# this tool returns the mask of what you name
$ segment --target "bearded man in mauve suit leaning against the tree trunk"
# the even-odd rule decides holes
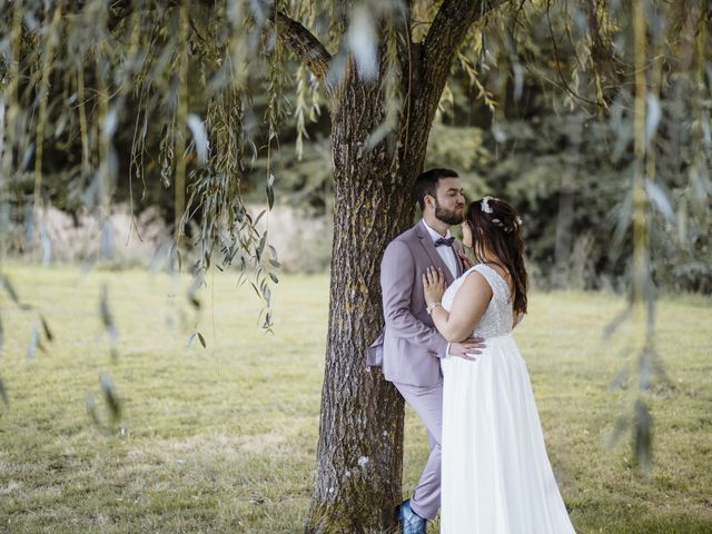
[[[447,285],[463,274],[463,249],[449,227],[463,221],[465,197],[457,172],[431,169],[415,182],[423,219],[396,237],[380,264],[385,329],[369,347],[367,365],[383,373],[425,423],[431,454],[413,497],[398,506],[404,534],[425,534],[426,522],[441,506],[441,434],[443,376],[439,358],[449,354],[473,359],[484,347],[469,338],[447,344],[433,326],[423,294],[423,274],[439,267]]]

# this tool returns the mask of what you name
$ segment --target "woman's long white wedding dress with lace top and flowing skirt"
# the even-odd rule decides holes
[[[474,336],[476,362],[442,360],[444,534],[560,534],[574,528],[552,472],[526,366],[512,337],[506,281],[477,265],[443,295],[452,308],[465,277],[478,271],[493,297]]]

